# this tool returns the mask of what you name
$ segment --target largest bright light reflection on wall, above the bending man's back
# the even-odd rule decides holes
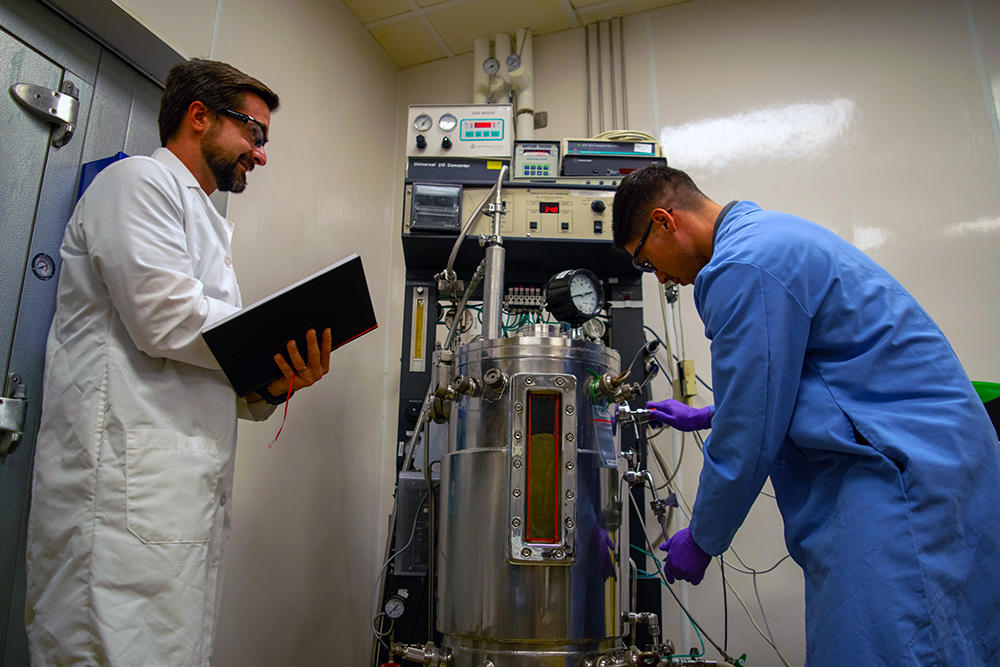
[[[664,127],[660,143],[679,168],[720,170],[764,159],[815,159],[842,137],[854,118],[854,103],[787,104]]]

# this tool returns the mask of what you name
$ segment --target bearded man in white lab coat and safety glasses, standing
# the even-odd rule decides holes
[[[229,65],[176,66],[164,147],[99,174],[66,227],[28,528],[35,665],[208,664],[237,417],[329,371],[329,331],[311,331],[241,399],[200,335],[241,307],[233,225],[208,196],[267,162],[277,107]]]

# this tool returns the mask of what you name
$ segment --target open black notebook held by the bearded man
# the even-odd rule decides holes
[[[361,258],[351,255],[304,280],[211,324],[201,332],[236,393],[246,396],[281,377],[274,363],[288,359],[295,340],[306,359],[306,332],[333,334],[333,349],[378,326]]]

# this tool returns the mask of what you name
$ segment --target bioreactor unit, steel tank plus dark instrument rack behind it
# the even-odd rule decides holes
[[[645,437],[611,419],[616,406],[635,419],[643,393],[616,350],[645,345],[641,278],[610,252],[614,184],[539,189],[507,183],[506,165],[438,166],[421,176],[432,187],[408,181],[404,207],[399,478],[372,663],[659,664],[673,653],[659,586],[628,552],[641,516],[626,495],[641,508],[652,481]]]

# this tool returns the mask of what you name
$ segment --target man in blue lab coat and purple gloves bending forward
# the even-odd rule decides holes
[[[807,663],[1000,665],[1000,447],[944,334],[860,250],[682,171],[622,181],[614,247],[694,285],[715,405],[691,524],[665,572],[698,583],[770,475],[805,572]]]

